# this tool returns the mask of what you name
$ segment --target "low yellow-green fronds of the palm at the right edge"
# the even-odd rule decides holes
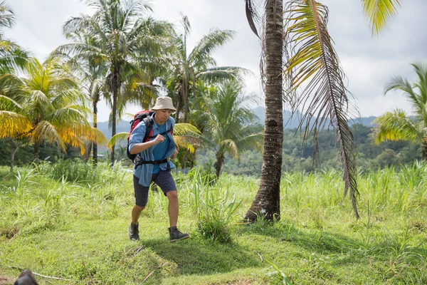
[[[421,125],[413,122],[404,110],[386,112],[372,123],[376,124],[376,127],[373,128],[371,136],[377,145],[386,140],[420,142],[423,138]]]

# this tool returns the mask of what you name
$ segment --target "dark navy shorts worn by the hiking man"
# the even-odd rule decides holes
[[[162,189],[164,195],[169,191],[176,191],[174,178],[170,171],[160,170],[159,173],[152,175],[152,182],[156,183]],[[145,207],[148,201],[149,187],[139,184],[139,178],[134,175],[135,204],[139,207]]]

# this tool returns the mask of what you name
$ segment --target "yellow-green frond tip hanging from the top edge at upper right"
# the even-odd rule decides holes
[[[379,35],[397,13],[401,0],[362,0],[364,16],[373,35]]]

